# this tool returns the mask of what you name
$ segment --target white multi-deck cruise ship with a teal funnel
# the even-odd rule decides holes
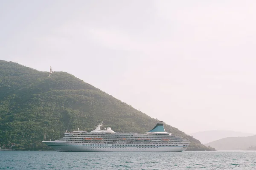
[[[66,131],[62,139],[43,142],[58,152],[182,152],[190,144],[166,132],[163,121],[144,134],[116,133],[111,127],[101,130],[102,123],[91,132]]]

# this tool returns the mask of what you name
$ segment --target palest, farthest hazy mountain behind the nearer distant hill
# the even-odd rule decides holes
[[[253,136],[253,133],[243,133],[230,130],[209,130],[189,134],[195,139],[198,139],[202,144],[216,141],[218,139],[227,137],[239,137],[239,136]],[[208,145],[207,145],[208,146]]]

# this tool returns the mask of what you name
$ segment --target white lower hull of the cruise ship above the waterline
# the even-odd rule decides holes
[[[182,144],[180,146],[150,146],[150,144],[144,144],[144,146],[130,146],[128,144],[127,146],[113,146],[113,144],[87,146],[85,143],[43,142],[58,152],[182,152],[187,148],[183,147]]]

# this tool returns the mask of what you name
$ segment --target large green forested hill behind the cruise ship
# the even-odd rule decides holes
[[[48,72],[0,60],[0,144],[44,149],[44,133],[60,139],[67,129],[90,131],[102,120],[116,132],[140,133],[158,122],[66,72],[48,77]],[[165,128],[189,139],[188,150],[214,150],[175,127]]]

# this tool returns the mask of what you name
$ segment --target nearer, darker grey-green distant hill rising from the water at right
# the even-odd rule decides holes
[[[228,137],[209,142],[205,146],[216,150],[256,150],[256,135],[248,137]]]

